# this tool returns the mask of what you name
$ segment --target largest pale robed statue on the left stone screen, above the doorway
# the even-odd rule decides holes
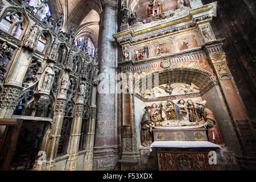
[[[44,92],[50,92],[53,84],[53,80],[55,77],[55,72],[53,70],[54,64],[50,63],[44,70],[42,77],[40,78],[38,84],[38,90]]]

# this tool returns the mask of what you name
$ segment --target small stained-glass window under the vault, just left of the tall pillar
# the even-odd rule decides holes
[[[92,40],[90,40],[87,36],[82,36],[77,39],[75,45],[84,53],[88,55],[92,55],[94,57],[95,47],[93,45]]]

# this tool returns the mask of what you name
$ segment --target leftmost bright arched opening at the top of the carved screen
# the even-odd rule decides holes
[[[0,22],[0,29],[19,39],[27,27],[23,14],[19,10],[6,10]]]

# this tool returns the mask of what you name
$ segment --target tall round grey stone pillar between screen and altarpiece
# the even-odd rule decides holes
[[[108,1],[107,1],[108,2]],[[113,34],[117,32],[117,3],[110,1],[102,7],[100,39],[98,43],[100,75],[97,95],[97,122],[94,145],[93,169],[117,169],[118,119],[117,92],[117,44]]]

